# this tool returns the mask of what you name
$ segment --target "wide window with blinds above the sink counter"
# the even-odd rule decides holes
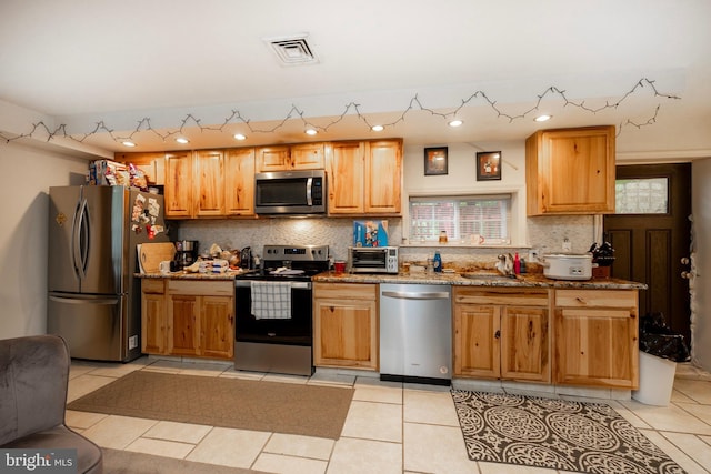
[[[487,243],[510,240],[511,195],[410,198],[410,241],[438,241],[441,231],[451,242],[470,242],[479,234]]]

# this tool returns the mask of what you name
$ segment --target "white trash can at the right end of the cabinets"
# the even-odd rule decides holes
[[[640,351],[640,387],[632,391],[632,399],[645,405],[669,405],[675,373],[675,362]]]

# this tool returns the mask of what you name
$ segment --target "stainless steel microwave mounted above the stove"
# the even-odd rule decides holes
[[[254,174],[257,214],[326,213],[326,171],[272,171]]]

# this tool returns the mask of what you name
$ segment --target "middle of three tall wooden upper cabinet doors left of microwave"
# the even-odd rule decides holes
[[[194,215],[224,214],[224,162],[219,150],[200,150],[194,155]]]

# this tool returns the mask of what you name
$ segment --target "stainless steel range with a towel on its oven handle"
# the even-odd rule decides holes
[[[261,269],[234,281],[234,369],[311,375],[311,278],[328,245],[264,245]]]

